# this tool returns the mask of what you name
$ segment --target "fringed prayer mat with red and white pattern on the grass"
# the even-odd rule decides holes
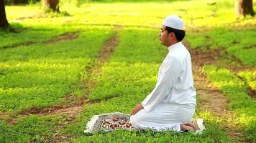
[[[120,112],[95,115],[87,123],[84,133],[93,134],[99,131],[110,132],[116,129],[132,130],[134,128],[129,122],[129,117],[129,114],[122,114]]]

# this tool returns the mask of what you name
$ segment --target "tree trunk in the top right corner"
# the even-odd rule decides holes
[[[252,6],[252,0],[236,0],[235,6],[237,15],[239,16],[246,16],[247,14],[250,14],[251,16],[255,15]]]

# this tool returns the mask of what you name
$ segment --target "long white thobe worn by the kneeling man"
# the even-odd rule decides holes
[[[169,46],[168,51],[155,88],[142,102],[144,109],[130,117],[135,128],[179,132],[180,124],[189,122],[195,113],[191,55],[181,42]]]

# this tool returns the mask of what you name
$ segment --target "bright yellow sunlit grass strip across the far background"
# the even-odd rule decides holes
[[[116,1],[105,2],[79,2],[79,6],[70,4],[70,1],[62,1],[60,11],[67,12],[70,16],[60,16],[58,18],[36,18],[22,19],[20,24],[109,24],[121,26],[161,26],[165,16],[178,14],[183,18],[186,29],[201,27],[224,27],[224,26],[244,26],[255,25],[255,17],[237,20],[234,12],[234,1],[216,1],[216,4],[209,5],[207,0],[193,1]],[[76,5],[76,4],[75,4]],[[255,4],[254,4],[255,5]],[[40,6],[31,6],[32,14]],[[255,7],[256,9],[256,7]],[[24,14],[19,8],[8,7],[10,19],[18,18]],[[36,10],[37,11],[37,10]],[[30,16],[30,14],[29,14]]]

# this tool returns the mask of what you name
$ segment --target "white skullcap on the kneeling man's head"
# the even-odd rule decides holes
[[[184,22],[177,15],[167,16],[163,21],[163,25],[173,29],[184,30]]]

